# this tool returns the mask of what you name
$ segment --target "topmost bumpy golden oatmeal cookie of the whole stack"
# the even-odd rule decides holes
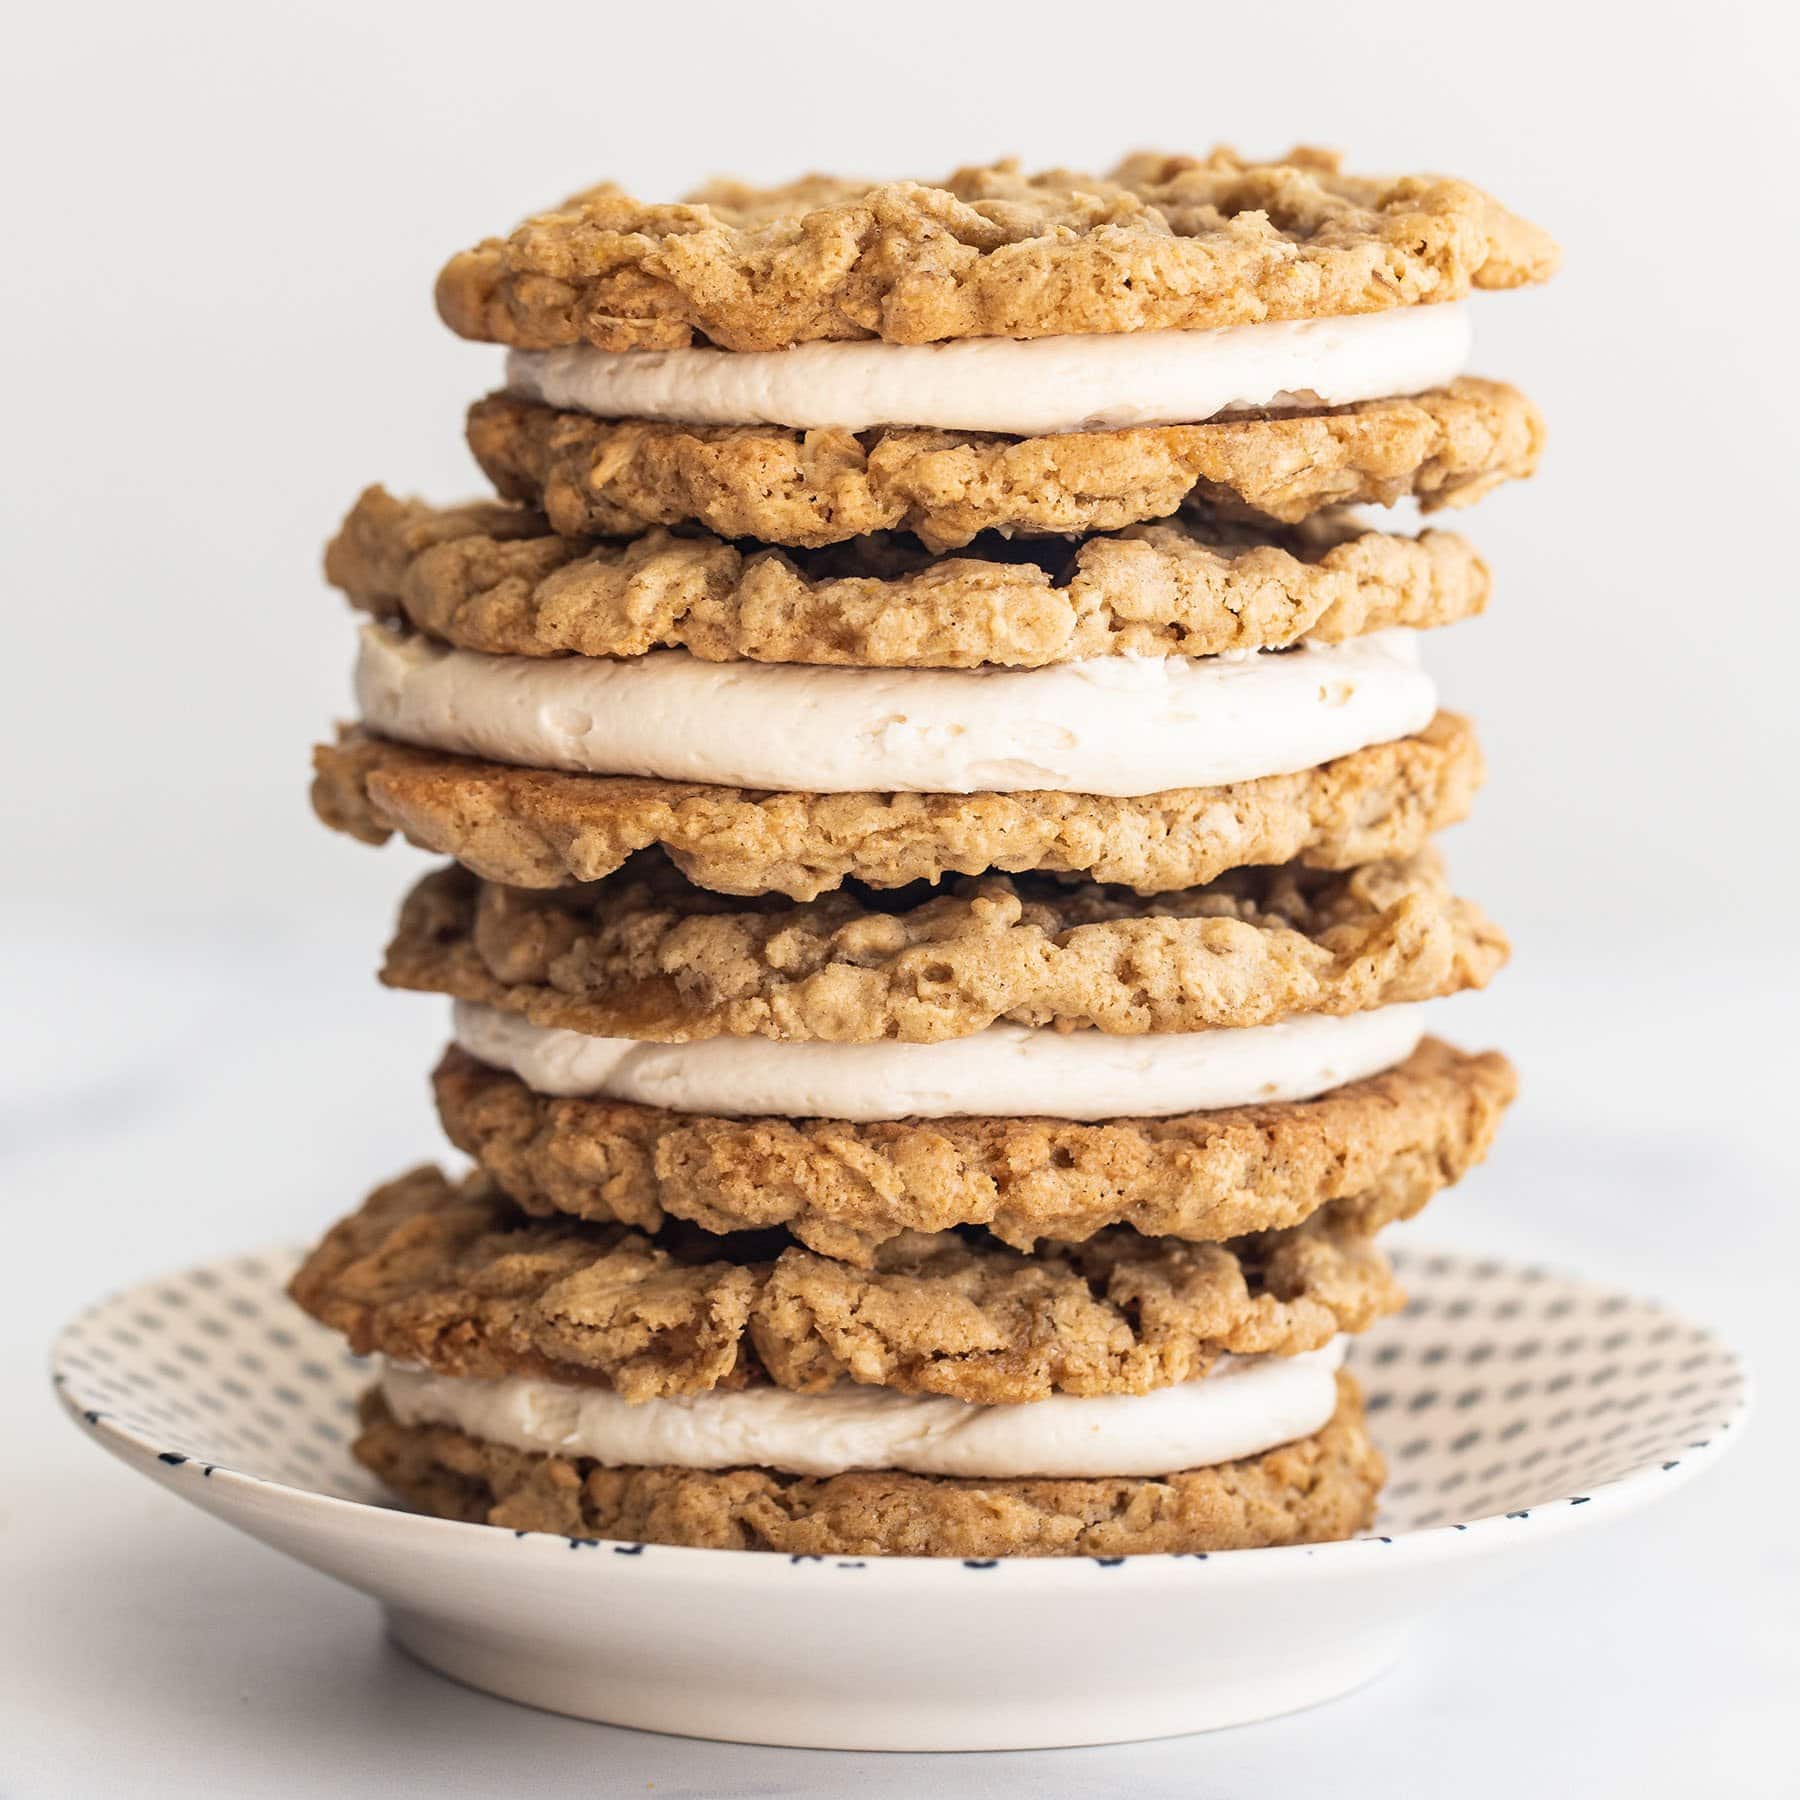
[[[1220,148],[1105,176],[1008,160],[943,184],[713,182],[675,205],[605,182],[452,257],[437,311],[524,349],[760,351],[1373,313],[1555,266],[1548,234],[1467,182]]]

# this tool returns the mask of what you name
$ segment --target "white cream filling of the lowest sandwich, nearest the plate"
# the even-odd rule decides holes
[[[608,1467],[844,1474],[1157,1476],[1260,1456],[1321,1429],[1337,1406],[1343,1339],[1292,1357],[1222,1357],[1201,1381],[1152,1393],[1053,1395],[970,1406],[941,1395],[839,1386],[747,1388],[632,1404],[607,1388],[513,1375],[434,1375],[389,1364],[382,1395],[403,1426],[450,1426],[491,1444]]]

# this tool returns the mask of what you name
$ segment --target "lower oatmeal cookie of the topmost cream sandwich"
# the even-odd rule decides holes
[[[819,547],[911,531],[949,551],[983,531],[1118,531],[1190,500],[1294,524],[1345,506],[1467,506],[1537,468],[1544,423],[1516,387],[1462,376],[1411,398],[1204,425],[997,437],[884,427],[596,419],[490,394],[468,445],[508,500],[569,536],[697,522]]]

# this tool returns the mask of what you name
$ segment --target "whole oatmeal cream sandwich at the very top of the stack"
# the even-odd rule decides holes
[[[1534,470],[1543,421],[1465,373],[1456,302],[1553,266],[1462,182],[1215,151],[673,207],[599,187],[455,257],[439,308],[513,346],[468,441],[558,533],[943,551],[1188,499],[1463,506]]]

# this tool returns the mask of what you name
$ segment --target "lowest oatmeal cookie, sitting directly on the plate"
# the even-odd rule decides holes
[[[1316,1433],[1175,1474],[974,1480],[857,1471],[603,1467],[403,1426],[362,1402],[358,1462],[423,1512],[518,1532],[788,1555],[1051,1557],[1251,1550],[1354,1537],[1375,1516],[1381,1453],[1337,1375]]]

